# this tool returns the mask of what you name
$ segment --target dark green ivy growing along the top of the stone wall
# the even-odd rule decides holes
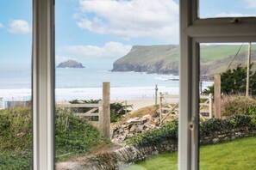
[[[219,133],[231,131],[256,130],[256,115],[234,115],[228,119],[211,118],[200,123],[199,136],[209,137]],[[136,137],[128,139],[128,144],[148,146],[161,141],[178,139],[178,120],[165,124],[159,129],[144,132]]]

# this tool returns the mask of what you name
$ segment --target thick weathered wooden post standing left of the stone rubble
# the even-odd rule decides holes
[[[110,138],[110,82],[103,82],[103,113],[99,124],[103,135]]]

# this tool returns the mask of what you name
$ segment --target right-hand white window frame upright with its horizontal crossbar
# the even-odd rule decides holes
[[[179,170],[199,169],[199,44],[256,42],[255,17],[199,19],[198,6],[197,0],[180,0]]]

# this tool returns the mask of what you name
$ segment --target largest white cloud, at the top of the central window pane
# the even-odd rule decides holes
[[[174,0],[80,0],[78,27],[122,38],[178,41],[178,3]],[[175,40],[174,40],[175,39]]]

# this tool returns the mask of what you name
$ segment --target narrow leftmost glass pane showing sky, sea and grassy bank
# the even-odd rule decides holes
[[[0,169],[32,167],[32,1],[0,2]]]

